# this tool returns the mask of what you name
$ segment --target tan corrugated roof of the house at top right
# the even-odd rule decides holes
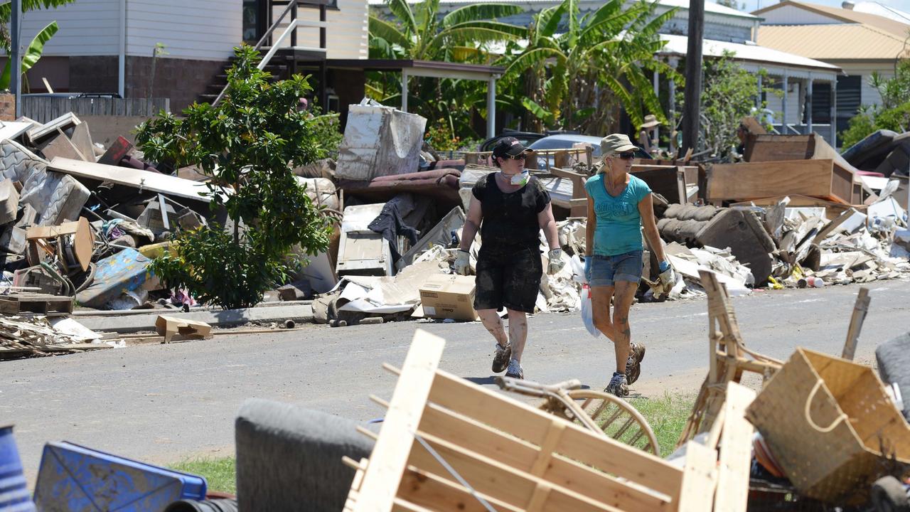
[[[904,39],[863,24],[763,25],[756,40],[767,46],[818,60],[894,59]]]

